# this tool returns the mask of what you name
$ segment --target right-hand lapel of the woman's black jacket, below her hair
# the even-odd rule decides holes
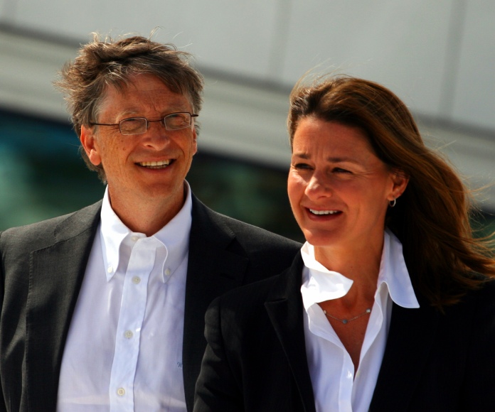
[[[418,309],[393,304],[387,345],[370,411],[408,410],[435,340],[439,316],[426,300],[420,300]]]

